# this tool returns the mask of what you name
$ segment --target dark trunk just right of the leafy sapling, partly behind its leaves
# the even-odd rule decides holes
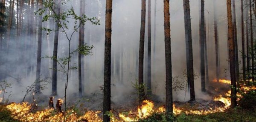
[[[80,0],[80,17],[83,16],[85,12],[85,0]],[[84,45],[84,25],[79,28],[79,47]],[[82,96],[82,71],[84,71],[84,56],[78,54],[78,76],[79,76],[79,96]]]

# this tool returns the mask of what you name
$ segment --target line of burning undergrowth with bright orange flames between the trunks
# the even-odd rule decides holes
[[[220,80],[221,82],[221,80]],[[222,82],[228,84],[228,82]],[[256,90],[256,87],[247,87],[241,85],[240,93],[247,93],[247,91]],[[218,92],[218,89],[216,90]],[[242,95],[237,94],[241,99]],[[100,99],[99,96],[97,99]],[[92,104],[102,105],[101,102],[97,103],[97,100],[85,102],[79,107],[70,107],[66,113],[66,122],[102,122],[102,112],[93,109],[81,109],[89,108]],[[63,102],[62,100],[60,102]],[[136,103],[131,101],[120,105],[112,104],[112,111],[109,113],[111,116],[111,122],[134,122],[140,119],[146,119],[154,113],[164,113],[165,107],[162,102],[153,102],[151,100],[144,100],[141,106],[136,106]],[[59,104],[59,103],[58,103]],[[59,104],[61,105],[61,104]],[[11,103],[5,105],[4,109],[10,111],[12,118],[19,120],[20,122],[62,122],[64,120],[64,113],[60,109],[44,107],[35,107],[35,104],[23,103]],[[75,105],[77,106],[77,105]],[[175,101],[173,104],[175,115],[182,113],[195,114],[195,115],[207,115],[210,113],[218,113],[226,111],[230,106],[230,91],[222,92],[212,96],[212,100],[197,99],[196,102],[179,102]]]

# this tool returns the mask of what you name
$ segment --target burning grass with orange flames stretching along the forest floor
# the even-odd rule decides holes
[[[222,83],[228,83],[228,80],[220,80]],[[240,91],[242,93],[247,93],[247,91],[256,90],[256,87],[241,86]],[[241,98],[241,94],[237,95]],[[197,116],[201,118],[202,116],[216,116],[217,114],[225,115],[227,111],[230,111],[230,91],[226,93],[219,94],[213,97],[213,100],[207,101],[198,99],[198,102],[177,102],[173,104],[174,114],[177,120],[184,119],[188,122],[189,119],[193,122],[194,117]],[[53,108],[40,109],[35,108],[33,104],[28,102],[23,103],[11,103],[9,105],[0,105],[0,113],[7,111],[6,114],[9,115],[11,122],[63,122],[64,113],[59,112]],[[144,100],[141,106],[137,107],[137,110],[128,110],[128,112],[112,112],[111,122],[136,122],[141,120],[146,120],[152,116],[156,118],[162,118],[165,112],[164,105],[156,107],[154,102],[150,100]],[[255,113],[254,113],[255,114]],[[254,115],[253,114],[253,115]],[[73,109],[68,109],[66,113],[66,122],[102,122],[101,111],[85,111],[84,113],[77,113]],[[6,116],[0,116],[4,118]],[[188,119],[189,118],[189,119]],[[193,119],[194,118],[194,119]],[[254,119],[256,120],[256,119]],[[141,121],[144,122],[144,121]],[[145,121],[148,122],[148,121]],[[153,122],[153,121],[150,121]],[[165,121],[160,121],[165,122]],[[168,122],[168,121],[166,121]],[[183,122],[183,121],[178,121]],[[197,121],[201,122],[201,121]],[[218,121],[212,121],[218,122]],[[225,122],[225,121],[224,121]],[[254,121],[250,121],[254,122]]]

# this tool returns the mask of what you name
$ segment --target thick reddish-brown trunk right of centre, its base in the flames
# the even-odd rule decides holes
[[[169,0],[163,0],[164,13],[164,43],[166,62],[166,114],[173,113],[172,107],[172,52],[171,52],[171,30]]]

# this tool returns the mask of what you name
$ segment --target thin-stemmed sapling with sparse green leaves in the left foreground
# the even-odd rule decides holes
[[[44,15],[43,22],[46,22],[50,18],[52,18],[53,20],[55,20],[56,23],[58,23],[58,29],[55,30],[55,29],[48,28],[48,27],[43,27],[41,29],[44,31],[47,31],[47,34],[49,34],[51,31],[61,31],[65,35],[65,37],[68,41],[67,57],[58,58],[58,57],[49,57],[48,56],[48,58],[51,58],[52,60],[56,60],[58,65],[61,67],[60,69],[54,69],[54,70],[61,71],[66,75],[65,94],[64,94],[64,106],[65,106],[64,120],[65,120],[66,108],[67,108],[66,96],[67,96],[67,86],[68,86],[68,81],[69,81],[69,73],[70,73],[70,70],[77,69],[75,66],[74,67],[70,66],[71,57],[75,52],[78,52],[83,55],[90,55],[91,49],[93,48],[93,46],[88,46],[85,44],[85,45],[79,46],[76,50],[71,51],[70,45],[71,45],[73,35],[75,32],[78,31],[79,27],[81,25],[85,25],[85,23],[87,21],[89,21],[93,25],[99,25],[99,20],[96,17],[92,17],[92,18],[87,17],[85,14],[81,14],[81,16],[79,16],[78,14],[75,13],[75,10],[73,9],[73,7],[71,7],[70,9],[67,9],[66,11],[62,11],[60,14],[58,14],[56,12],[56,9],[58,8],[58,4],[66,4],[70,0],[68,0],[68,1],[67,0],[58,0],[58,2],[55,2],[55,1],[56,0],[45,0],[43,3],[43,8],[36,11],[35,14],[43,15],[44,11],[49,11],[49,13],[51,13],[51,14]],[[68,26],[68,23],[70,23],[70,21],[73,21],[73,29],[72,30]],[[71,33],[68,32],[70,30],[71,30]]]

